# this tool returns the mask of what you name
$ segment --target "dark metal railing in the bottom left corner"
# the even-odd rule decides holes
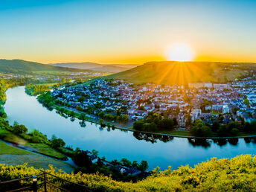
[[[71,190],[65,189],[63,187],[60,187],[58,185],[55,185],[53,182],[49,182],[48,178],[52,177],[55,179],[56,182],[67,182],[69,183],[69,185],[72,185],[73,188]],[[52,179],[52,180],[54,180]],[[22,181],[28,181],[28,182],[32,182],[31,185],[22,187],[22,188],[15,188],[17,185],[18,186],[22,186],[22,184],[20,182]],[[41,181],[41,182],[39,182]],[[43,188],[42,188],[43,187]],[[21,178],[21,179],[13,179],[10,181],[5,181],[5,182],[0,182],[0,191],[7,191],[7,192],[14,192],[14,191],[33,191],[33,192],[37,192],[39,188],[40,191],[51,191],[48,190],[48,188],[55,188],[58,189],[59,191],[89,191],[88,188],[86,188],[86,186],[74,183],[74,182],[70,182],[66,179],[60,178],[59,176],[54,176],[51,173],[48,172],[43,172],[41,174],[35,175],[35,176],[28,176],[25,178]],[[15,188],[15,189],[13,189]]]

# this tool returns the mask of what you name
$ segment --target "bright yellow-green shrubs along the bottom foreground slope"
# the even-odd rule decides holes
[[[117,182],[109,176],[98,173],[63,173],[50,168],[49,172],[68,179],[71,182],[85,185],[92,191],[255,191],[256,190],[256,157],[245,155],[233,159],[211,159],[194,168],[179,167],[178,170],[153,171],[153,175],[139,182]],[[0,165],[0,180],[17,179],[42,173],[33,167]],[[74,186],[49,179],[56,185],[71,189]],[[24,182],[22,185],[27,185]],[[2,189],[4,190],[4,188]]]

